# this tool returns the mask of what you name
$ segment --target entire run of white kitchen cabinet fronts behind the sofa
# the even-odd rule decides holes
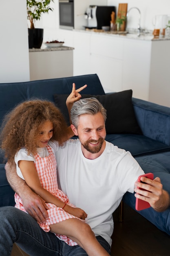
[[[97,73],[105,92],[148,100],[151,41],[74,31],[74,75]]]

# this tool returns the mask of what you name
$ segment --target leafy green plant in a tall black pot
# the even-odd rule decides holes
[[[40,20],[42,13],[53,11],[50,3],[54,0],[26,0],[27,19],[30,21],[29,48],[40,48],[43,40],[43,29],[35,29],[35,21]]]

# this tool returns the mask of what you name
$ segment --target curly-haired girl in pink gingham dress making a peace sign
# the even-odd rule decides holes
[[[81,97],[77,93],[75,96],[75,92],[72,91],[67,101],[77,101]],[[49,219],[40,227],[55,233],[68,245],[80,245],[89,256],[108,256],[84,222],[87,214],[73,206],[58,189],[55,152],[72,136],[71,128],[66,126],[60,110],[53,103],[25,101],[4,120],[2,149],[9,164],[15,159],[18,175],[46,202]],[[25,211],[16,193],[15,203],[15,207]]]

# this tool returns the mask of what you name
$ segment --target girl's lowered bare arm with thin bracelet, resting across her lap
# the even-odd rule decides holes
[[[83,220],[87,217],[87,214],[82,209],[71,207],[68,204],[65,205],[64,202],[60,201],[49,191],[42,188],[33,161],[21,160],[18,162],[18,166],[22,172],[26,184],[46,203],[52,203],[55,204],[57,207],[64,208],[64,211],[67,211],[68,213],[73,214],[78,218],[82,218]]]

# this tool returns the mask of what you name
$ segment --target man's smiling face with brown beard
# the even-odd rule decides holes
[[[71,126],[75,135],[79,136],[82,152],[88,159],[95,159],[105,148],[106,129],[101,112],[95,115],[79,116],[78,128]]]

